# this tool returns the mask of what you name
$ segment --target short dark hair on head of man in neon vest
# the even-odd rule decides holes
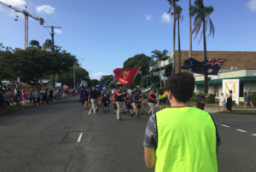
[[[195,77],[189,72],[174,74],[167,78],[166,89],[172,92],[177,101],[185,103],[194,93]]]

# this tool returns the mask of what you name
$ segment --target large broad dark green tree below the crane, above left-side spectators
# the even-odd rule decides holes
[[[41,77],[51,72],[68,72],[76,61],[73,55],[66,51],[49,52],[46,49],[7,49],[5,58],[11,66],[9,67],[20,77],[20,81],[31,86],[37,86]]]

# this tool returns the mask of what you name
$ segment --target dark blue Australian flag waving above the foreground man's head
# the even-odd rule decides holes
[[[219,69],[224,65],[226,59],[210,59],[198,61],[189,58],[184,61],[182,69],[191,69],[192,72],[201,73],[203,75],[218,75]]]

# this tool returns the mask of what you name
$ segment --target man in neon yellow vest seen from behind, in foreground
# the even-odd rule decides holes
[[[171,107],[148,119],[143,146],[155,172],[217,172],[221,140],[211,115],[190,105],[195,77],[182,72],[166,80]]]

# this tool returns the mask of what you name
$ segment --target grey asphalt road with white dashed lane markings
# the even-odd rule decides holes
[[[88,115],[76,96],[0,117],[0,171],[154,171],[143,159],[148,115],[119,122],[112,110]],[[219,171],[255,171],[256,116],[212,116],[223,142]]]

